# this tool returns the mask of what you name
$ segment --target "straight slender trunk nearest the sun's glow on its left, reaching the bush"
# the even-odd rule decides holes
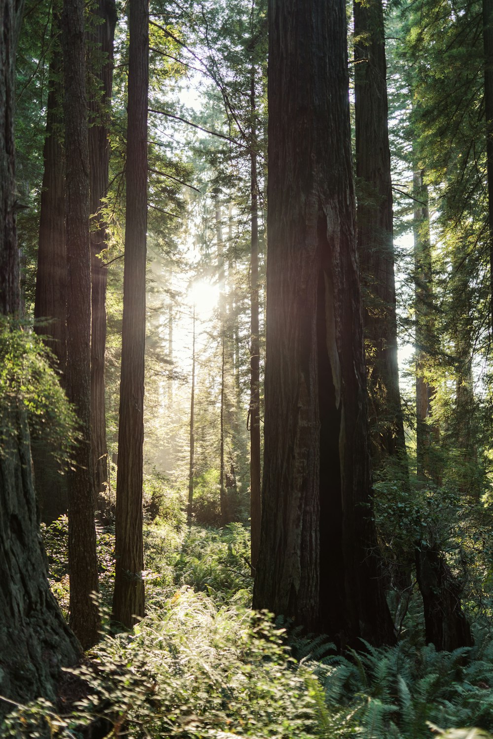
[[[147,92],[149,5],[129,13],[125,267],[118,429],[113,619],[127,628],[144,614],[142,481],[146,344]]]

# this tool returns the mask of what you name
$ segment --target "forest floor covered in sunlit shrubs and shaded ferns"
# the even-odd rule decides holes
[[[44,534],[52,588],[66,610],[67,520]],[[70,673],[85,681],[84,697],[65,712],[43,701],[20,709],[2,737],[41,736],[47,726],[49,736],[71,739],[472,739],[493,730],[490,638],[477,633],[472,649],[437,653],[424,644],[412,603],[396,647],[361,644],[361,653],[336,655],[326,638],[250,610],[244,525],[156,519],[144,541],[145,619],[132,633],[111,630],[113,534],[98,528],[104,633]]]

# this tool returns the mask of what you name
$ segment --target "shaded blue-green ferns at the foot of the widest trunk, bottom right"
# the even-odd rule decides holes
[[[493,729],[491,641],[452,653],[437,653],[432,644],[416,649],[409,641],[364,649],[327,658],[332,667],[324,678],[329,705],[364,696],[358,713],[364,737],[424,738],[427,722]]]

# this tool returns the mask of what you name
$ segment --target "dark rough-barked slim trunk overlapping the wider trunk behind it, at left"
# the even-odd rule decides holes
[[[70,625],[84,649],[98,641],[100,619],[91,451],[91,252],[89,248],[89,146],[84,1],[64,0],[64,120],[67,157],[67,396],[80,421],[80,440],[67,474]]]

